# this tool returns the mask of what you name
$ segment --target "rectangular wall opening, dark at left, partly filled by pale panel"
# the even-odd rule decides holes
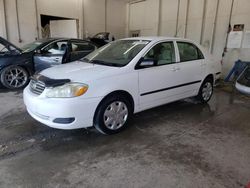
[[[77,19],[41,15],[42,38],[78,38],[78,25]]]

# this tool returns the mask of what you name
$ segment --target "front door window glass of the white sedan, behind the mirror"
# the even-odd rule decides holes
[[[175,63],[175,48],[173,42],[164,42],[155,45],[144,56],[144,60],[153,60],[156,65]]]

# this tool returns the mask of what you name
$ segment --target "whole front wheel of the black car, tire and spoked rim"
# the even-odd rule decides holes
[[[8,89],[24,88],[29,83],[29,73],[20,66],[9,66],[1,71],[1,83]]]

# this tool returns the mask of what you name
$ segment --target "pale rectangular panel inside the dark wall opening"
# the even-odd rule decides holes
[[[50,37],[77,38],[76,20],[51,20]]]

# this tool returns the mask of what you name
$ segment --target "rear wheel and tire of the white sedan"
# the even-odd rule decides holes
[[[207,103],[211,99],[213,92],[214,92],[213,80],[206,78],[201,84],[199,94],[196,96],[196,98],[201,103]]]

